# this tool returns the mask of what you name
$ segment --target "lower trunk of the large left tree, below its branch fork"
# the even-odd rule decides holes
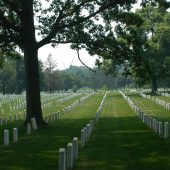
[[[31,117],[36,118],[38,125],[45,124],[42,117],[41,99],[40,99],[40,82],[37,50],[25,48],[25,74],[26,74],[26,120],[30,122]]]

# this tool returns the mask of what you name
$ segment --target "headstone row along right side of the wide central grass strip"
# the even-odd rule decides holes
[[[160,136],[164,138],[168,138],[169,136],[169,123],[168,122],[160,122],[148,115],[147,113],[142,112],[134,103],[130,100],[128,96],[126,96],[122,91],[120,91],[121,95],[127,102],[129,103],[132,110],[137,114],[138,118],[143,121],[148,127],[150,127],[155,133],[158,133]]]

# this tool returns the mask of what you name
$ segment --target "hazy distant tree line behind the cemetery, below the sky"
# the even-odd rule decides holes
[[[84,66],[70,66],[65,70],[58,70],[53,58],[49,55],[46,62],[39,61],[40,88],[41,91],[55,92],[76,91],[80,88],[114,89],[125,87],[132,83],[131,78],[119,75],[106,75],[98,69],[96,72],[88,70]],[[20,94],[25,91],[25,69],[22,57],[17,59],[6,58],[0,69],[0,93]]]

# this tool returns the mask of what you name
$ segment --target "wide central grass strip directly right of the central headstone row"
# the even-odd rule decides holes
[[[136,117],[120,95],[109,94],[74,170],[169,170],[169,145]]]

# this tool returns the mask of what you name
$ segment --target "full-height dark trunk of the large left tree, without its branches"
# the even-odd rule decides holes
[[[26,120],[25,124],[34,117],[37,125],[46,124],[42,117],[40,100],[40,80],[38,49],[35,39],[33,0],[21,1],[23,6],[23,51],[26,78]]]

